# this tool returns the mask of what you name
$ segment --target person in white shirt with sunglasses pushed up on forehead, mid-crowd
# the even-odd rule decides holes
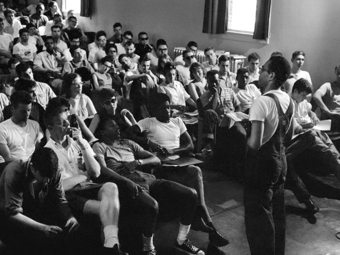
[[[189,104],[192,108],[196,108],[196,103],[191,99],[190,95],[185,91],[182,83],[175,80],[176,67],[170,62],[164,65],[165,80],[158,86],[157,92],[167,94],[170,97],[170,108],[174,109],[174,114],[180,114],[186,111],[185,104]]]

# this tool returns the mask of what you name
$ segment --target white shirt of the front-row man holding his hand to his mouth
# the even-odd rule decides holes
[[[76,175],[86,175],[89,177],[87,171],[83,171],[78,167],[78,157],[79,152],[81,152],[78,144],[70,138],[67,137],[67,147],[64,148],[60,144],[53,141],[51,138],[47,141],[45,147],[53,149],[55,154],[58,157],[58,166],[61,170],[61,178],[62,180],[68,177],[76,176]],[[95,156],[92,148],[86,141],[86,148],[90,152],[91,155]]]

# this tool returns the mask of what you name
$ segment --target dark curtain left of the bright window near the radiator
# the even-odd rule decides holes
[[[203,33],[224,33],[227,21],[227,0],[205,0]]]

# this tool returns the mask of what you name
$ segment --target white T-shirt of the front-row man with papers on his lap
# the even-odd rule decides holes
[[[170,118],[168,123],[160,122],[155,117],[144,118],[139,120],[137,125],[141,132],[145,132],[147,138],[168,149],[178,148],[179,136],[186,131],[180,117]]]

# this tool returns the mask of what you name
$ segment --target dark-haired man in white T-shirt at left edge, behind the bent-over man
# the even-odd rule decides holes
[[[28,119],[32,96],[17,91],[10,96],[12,116],[0,123],[0,156],[5,162],[27,160],[39,146],[43,136],[38,122]]]

